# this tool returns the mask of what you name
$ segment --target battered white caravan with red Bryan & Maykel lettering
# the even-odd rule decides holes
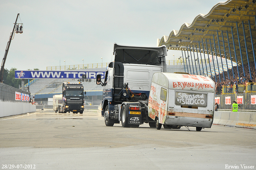
[[[156,128],[193,126],[210,128],[214,114],[215,84],[208,76],[156,72],[148,99],[148,116]]]

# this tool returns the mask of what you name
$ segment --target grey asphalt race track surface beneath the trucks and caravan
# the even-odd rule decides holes
[[[256,169],[252,129],[107,127],[97,110],[59,114],[51,109],[0,118],[0,129],[1,169]]]

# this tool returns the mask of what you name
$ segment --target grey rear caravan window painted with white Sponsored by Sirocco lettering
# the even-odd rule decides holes
[[[207,106],[207,94],[176,92],[175,104]]]

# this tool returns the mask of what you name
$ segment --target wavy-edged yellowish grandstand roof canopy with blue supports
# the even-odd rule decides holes
[[[241,61],[240,51],[244,63],[247,63],[247,47],[249,62],[252,62],[254,61],[253,49],[256,52],[255,23],[256,0],[219,2],[208,14],[196,16],[192,24],[184,23],[180,30],[173,30],[169,36],[158,39],[158,46],[166,45],[169,50],[187,50],[187,48],[191,51],[200,52],[201,50],[201,52],[208,52],[216,56],[220,56],[220,54],[225,56],[226,53],[228,59],[230,59],[231,52],[233,61],[235,61],[236,52],[239,64]],[[244,37],[246,37],[246,42]],[[223,46],[223,44],[225,45]],[[234,51],[234,45],[236,51]]]

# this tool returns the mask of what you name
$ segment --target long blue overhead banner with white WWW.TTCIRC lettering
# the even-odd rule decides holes
[[[105,72],[83,72],[83,71],[15,71],[15,78],[86,78],[96,79],[96,76],[100,74],[104,78]]]

